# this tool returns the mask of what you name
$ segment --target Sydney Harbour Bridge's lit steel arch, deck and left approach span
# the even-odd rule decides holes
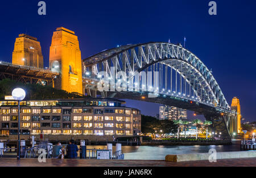
[[[75,36],[75,32],[68,29],[61,27],[58,30]],[[75,42],[64,46],[74,48]],[[57,55],[57,48],[51,48],[52,53]],[[57,57],[53,58],[52,62],[50,59],[49,70],[0,62],[0,79],[11,78],[55,87],[60,78],[76,78],[77,73],[72,71],[75,68],[72,60],[61,58],[56,61]],[[64,70],[56,70],[68,68],[67,62],[67,66],[64,66],[65,61],[71,61],[67,77]],[[212,129],[216,132],[220,131],[223,135],[237,132],[238,113],[232,111],[212,72],[202,60],[181,45],[150,42],[118,46],[90,56],[82,63],[80,61],[79,68],[83,94],[142,100],[188,109],[212,121]],[[65,82],[66,87],[69,87],[67,83],[74,83],[69,82]],[[104,90],[99,90],[99,87]]]

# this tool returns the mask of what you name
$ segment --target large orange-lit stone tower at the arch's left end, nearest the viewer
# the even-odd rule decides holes
[[[60,73],[55,88],[82,94],[82,61],[75,32],[59,27],[53,32],[49,69]]]

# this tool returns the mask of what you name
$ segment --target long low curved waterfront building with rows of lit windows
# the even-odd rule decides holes
[[[21,101],[22,138],[44,135],[48,139],[66,140],[137,135],[141,132],[141,111],[123,104],[125,101],[108,98]],[[0,101],[0,109],[0,134],[15,139],[18,102]]]

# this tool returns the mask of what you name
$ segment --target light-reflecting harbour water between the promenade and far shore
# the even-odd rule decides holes
[[[168,154],[189,154],[209,152],[216,149],[217,152],[241,151],[241,141],[233,140],[233,145],[210,146],[122,146],[125,159],[164,160]],[[87,149],[106,149],[106,146],[87,146]],[[113,146],[113,151],[115,147]]]

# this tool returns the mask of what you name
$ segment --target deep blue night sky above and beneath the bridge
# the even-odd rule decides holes
[[[19,33],[38,37],[48,66],[53,31],[63,26],[76,32],[82,58],[117,45],[187,38],[220,85],[229,104],[241,102],[242,116],[256,121],[256,1],[216,1],[217,15],[208,14],[209,0],[179,1],[45,1],[47,15],[38,15],[39,1],[0,2],[0,60],[11,62]],[[135,107],[137,101],[127,105]],[[146,115],[159,105],[139,103]]]

